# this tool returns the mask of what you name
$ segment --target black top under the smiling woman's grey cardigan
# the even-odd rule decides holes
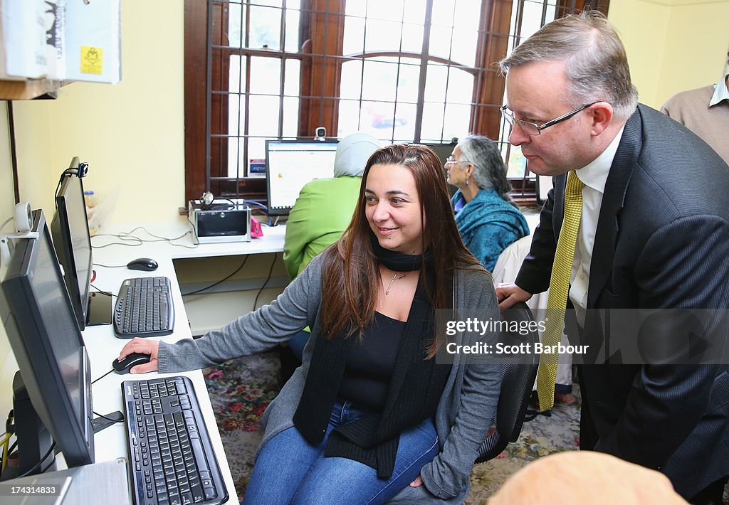
[[[364,329],[362,340],[349,349],[339,386],[340,398],[376,412],[384,410],[403,333],[405,321],[375,312],[372,324]]]

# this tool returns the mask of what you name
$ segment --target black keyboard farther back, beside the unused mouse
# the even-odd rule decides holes
[[[174,324],[175,309],[168,278],[137,277],[122,282],[114,308],[117,337],[168,335]]]

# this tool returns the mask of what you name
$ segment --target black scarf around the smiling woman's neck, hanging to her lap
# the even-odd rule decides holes
[[[421,267],[421,257],[389,251],[375,243],[376,239],[373,240],[375,255],[391,270],[403,272]],[[376,469],[382,479],[392,475],[400,433],[434,415],[451,372],[450,366],[436,365],[434,359],[425,359],[434,334],[434,310],[423,286],[424,280],[431,288],[434,282],[428,259],[426,254],[424,275],[421,275],[410,307],[383,412],[338,426],[324,447],[324,455],[364,463]],[[450,290],[450,278],[447,282]],[[295,426],[311,444],[319,444],[324,439],[346,367],[346,356],[354,342],[356,337],[343,335],[331,340],[322,337],[316,342],[294,415]]]

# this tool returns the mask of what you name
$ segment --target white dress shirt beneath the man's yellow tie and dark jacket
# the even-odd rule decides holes
[[[595,246],[595,232],[600,217],[602,197],[605,192],[605,183],[610,173],[612,160],[617,152],[617,145],[623,137],[623,128],[612,139],[607,149],[591,163],[575,170],[574,173],[585,184],[582,188],[582,216],[580,216],[580,229],[577,230],[577,240],[574,244],[574,259],[572,259],[572,273],[570,274],[569,300],[574,305],[577,321],[580,325],[585,323],[585,309],[588,305],[588,285],[590,280],[590,262],[592,261],[593,246]]]

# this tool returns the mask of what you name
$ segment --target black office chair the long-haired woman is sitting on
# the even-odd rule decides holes
[[[531,310],[525,302],[519,302],[512,308],[502,312],[502,321],[534,321]],[[529,348],[534,351],[534,342],[539,342],[537,329],[529,334],[519,332],[502,332],[501,342],[505,345],[518,345],[522,342],[530,343]],[[492,431],[478,447],[478,457],[475,463],[483,463],[501,454],[509,442],[516,442],[524,422],[526,406],[529,403],[534,378],[537,377],[537,364],[539,355],[503,355],[502,388],[499,393],[499,403],[496,405],[496,430]]]

